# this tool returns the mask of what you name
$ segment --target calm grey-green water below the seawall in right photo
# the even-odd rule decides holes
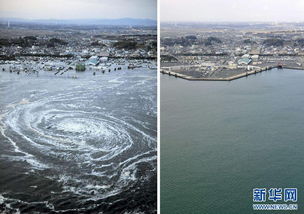
[[[252,210],[252,189],[297,187],[304,213],[304,71],[232,82],[161,76],[161,211]],[[277,211],[274,213],[286,213]]]

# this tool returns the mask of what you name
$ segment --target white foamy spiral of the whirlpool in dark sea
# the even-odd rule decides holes
[[[78,93],[68,91],[47,98],[37,95],[33,101],[23,99],[8,106],[13,110],[3,116],[1,134],[16,153],[24,154],[18,158],[33,168],[56,169],[59,174],[53,179],[64,183],[66,190],[90,194],[94,189],[102,197],[117,194],[136,180],[138,163],[155,160],[145,154],[155,151],[151,145],[156,138],[101,108],[82,108],[81,102],[88,100],[89,93]],[[138,147],[143,151],[136,151]],[[81,172],[82,168],[86,170]],[[75,170],[80,174],[73,174]],[[99,182],[96,177],[107,179]]]

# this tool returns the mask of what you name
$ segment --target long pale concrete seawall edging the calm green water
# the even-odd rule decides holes
[[[236,79],[240,79],[243,77],[247,77],[249,75],[253,75],[253,74],[257,74],[257,73],[261,73],[263,71],[267,71],[267,70],[271,70],[273,68],[286,68],[286,69],[294,69],[294,70],[304,70],[303,67],[291,67],[291,66],[268,66],[268,67],[264,67],[261,68],[259,70],[253,70],[253,71],[246,71],[231,77],[219,77],[219,78],[197,78],[197,77],[192,77],[192,76],[188,76],[185,74],[180,74],[177,72],[173,72],[173,71],[167,71],[167,70],[163,70],[161,69],[160,72],[162,74],[168,74],[169,76],[174,76],[174,77],[178,77],[178,78],[182,78],[185,80],[191,80],[191,81],[232,81],[232,80],[236,80]]]

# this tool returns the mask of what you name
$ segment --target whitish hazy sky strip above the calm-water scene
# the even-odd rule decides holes
[[[304,21],[304,0],[160,0],[161,21]]]

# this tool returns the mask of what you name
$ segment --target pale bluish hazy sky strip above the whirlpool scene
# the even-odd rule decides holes
[[[0,0],[0,17],[30,19],[157,17],[156,0]]]

